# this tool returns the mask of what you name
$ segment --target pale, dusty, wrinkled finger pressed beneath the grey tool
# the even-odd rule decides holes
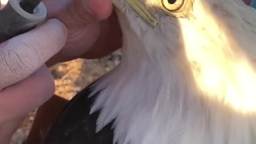
[[[33,74],[62,49],[66,38],[66,27],[59,20],[49,20],[0,44],[0,90]]]

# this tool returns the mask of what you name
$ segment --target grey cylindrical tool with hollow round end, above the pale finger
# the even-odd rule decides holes
[[[21,0],[9,0],[0,11],[0,43],[34,29],[46,18],[46,7],[41,2],[34,12],[28,13],[20,6]]]

